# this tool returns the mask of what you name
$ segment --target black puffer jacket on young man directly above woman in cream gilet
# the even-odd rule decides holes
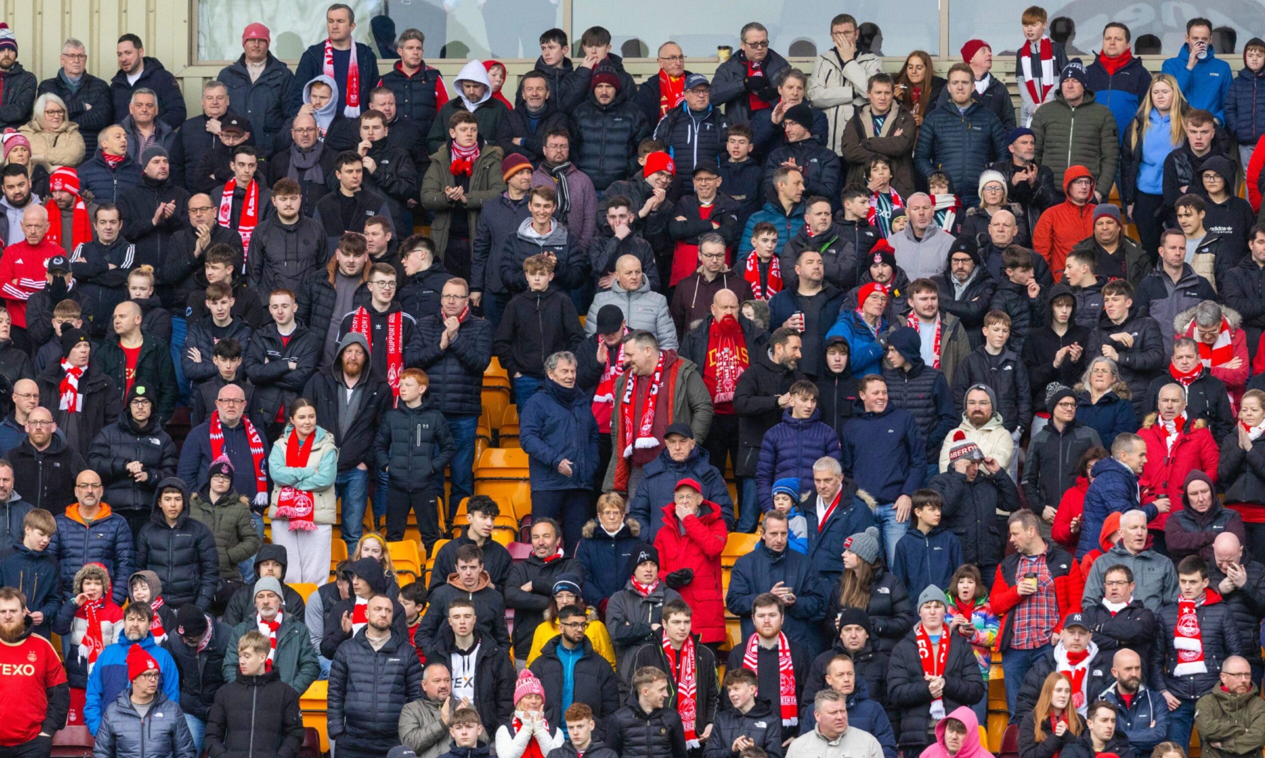
[[[250,335],[244,360],[245,375],[254,385],[250,412],[272,419],[278,409],[290,408],[316,374],[321,347],[320,336],[302,326],[290,332],[288,344],[281,340],[275,322]],[[290,370],[291,363],[299,368]]]

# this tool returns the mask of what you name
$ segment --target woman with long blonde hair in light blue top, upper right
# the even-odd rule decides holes
[[[1164,159],[1185,141],[1183,115],[1189,110],[1182,88],[1168,73],[1157,73],[1137,106],[1120,152],[1121,200],[1137,225],[1142,249],[1160,249],[1164,230]]]

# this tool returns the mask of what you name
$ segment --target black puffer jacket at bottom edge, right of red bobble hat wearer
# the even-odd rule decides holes
[[[299,694],[277,670],[239,676],[215,692],[205,745],[214,758],[297,758],[304,745]]]

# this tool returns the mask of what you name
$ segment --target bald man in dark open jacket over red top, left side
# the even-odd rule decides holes
[[[95,360],[101,373],[114,380],[121,397],[126,398],[134,384],[145,385],[153,395],[153,412],[167,421],[176,408],[176,369],[167,342],[140,331],[142,318],[140,306],[133,301],[115,306],[110,322],[113,336],[101,341]]]

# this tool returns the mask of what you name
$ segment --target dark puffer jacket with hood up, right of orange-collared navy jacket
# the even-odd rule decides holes
[[[163,488],[180,489],[185,508],[168,527],[167,518],[158,508]],[[197,519],[188,517],[188,488],[185,480],[168,476],[154,488],[154,510],[149,523],[137,534],[137,567],[158,575],[163,586],[163,600],[172,608],[196,603],[200,609],[211,609],[211,600],[220,587],[220,553],[215,550],[215,534]]]

